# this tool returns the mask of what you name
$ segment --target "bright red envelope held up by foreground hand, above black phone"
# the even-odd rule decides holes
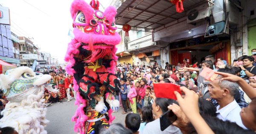
[[[173,83],[153,83],[154,93],[158,98],[177,100],[174,91],[181,94],[180,86]]]

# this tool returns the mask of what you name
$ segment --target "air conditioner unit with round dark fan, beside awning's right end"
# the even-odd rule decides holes
[[[196,23],[206,17],[210,16],[210,8],[208,3],[196,7],[187,12],[187,23]]]

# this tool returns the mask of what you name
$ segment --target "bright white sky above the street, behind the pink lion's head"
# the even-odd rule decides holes
[[[90,0],[85,0],[90,3]],[[112,0],[99,0],[106,8]],[[69,30],[73,29],[70,5],[73,0],[0,0],[10,10],[11,31],[37,44],[41,51],[51,53],[64,63],[67,45],[71,41]],[[100,10],[103,7],[100,6]]]

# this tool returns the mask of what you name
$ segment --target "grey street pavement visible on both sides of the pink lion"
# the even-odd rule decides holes
[[[64,101],[61,103],[54,103],[49,105],[47,108],[47,120],[50,122],[46,126],[48,134],[76,134],[74,132],[75,123],[71,121],[71,118],[76,112],[77,106],[75,105],[75,100],[70,102]],[[128,111],[131,112],[131,111]],[[125,116],[127,114],[121,114],[122,108],[119,108],[119,111],[113,113],[116,119],[113,123],[125,124]]]

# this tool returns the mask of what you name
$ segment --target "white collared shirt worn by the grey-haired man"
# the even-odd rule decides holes
[[[220,105],[218,105],[217,107],[217,118],[223,121],[230,121],[233,123],[236,123],[237,125],[239,125],[240,127],[247,129],[241,120],[240,117],[240,111],[241,108],[240,106],[237,104],[236,100],[234,99],[234,101],[232,103],[229,103],[228,105],[224,106],[223,108],[220,108]]]

